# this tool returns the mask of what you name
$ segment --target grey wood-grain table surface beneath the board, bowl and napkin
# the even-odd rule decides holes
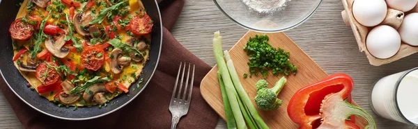
[[[369,92],[373,83],[383,76],[416,67],[418,57],[410,55],[380,67],[369,65],[364,53],[359,52],[350,27],[344,24],[341,10],[341,1],[323,1],[315,15],[307,22],[285,33],[327,74],[345,73],[354,79],[353,99],[373,114],[378,128],[412,128],[404,123],[376,116],[369,106]],[[224,49],[231,49],[233,44],[247,33],[245,28],[227,19],[213,1],[189,0],[186,1],[172,33],[189,51],[213,66],[215,58],[212,55],[212,36],[215,31],[221,31]],[[217,127],[225,128],[226,124],[220,120]],[[1,92],[0,128],[22,128]]]

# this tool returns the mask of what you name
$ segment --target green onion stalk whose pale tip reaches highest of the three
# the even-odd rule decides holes
[[[229,75],[228,68],[224,61],[224,54],[222,53],[222,37],[220,36],[219,31],[215,32],[213,37],[213,53],[215,55],[219,74],[221,74],[222,80],[224,81],[226,95],[228,96],[229,104],[232,108],[236,126],[238,129],[247,128],[244,117],[242,117],[240,105],[238,104],[239,100],[237,100],[235,96],[236,92],[231,76]]]

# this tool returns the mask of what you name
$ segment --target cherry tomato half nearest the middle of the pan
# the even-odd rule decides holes
[[[86,69],[97,71],[104,62],[104,51],[98,46],[87,46],[82,52],[82,65]]]

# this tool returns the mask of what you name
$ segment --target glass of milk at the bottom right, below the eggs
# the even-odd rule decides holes
[[[418,126],[418,67],[378,80],[371,109],[380,117]]]

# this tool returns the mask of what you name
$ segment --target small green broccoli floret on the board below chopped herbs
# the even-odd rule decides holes
[[[285,83],[286,78],[282,77],[272,89],[268,89],[267,81],[258,80],[256,83],[257,95],[255,98],[257,107],[261,110],[277,110],[283,103],[281,99],[277,98],[277,94],[283,89]]]

